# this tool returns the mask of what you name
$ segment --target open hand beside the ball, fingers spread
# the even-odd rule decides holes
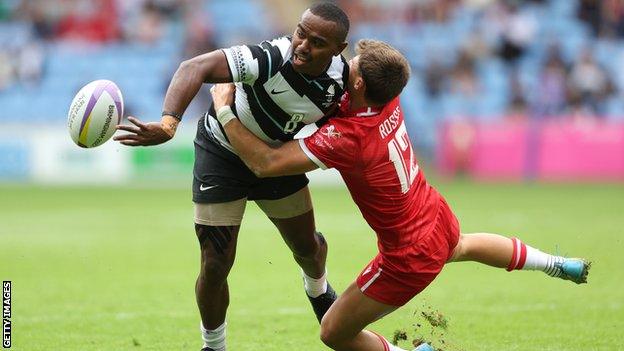
[[[123,130],[130,134],[117,135],[113,140],[128,146],[148,146],[162,144],[173,138],[175,131],[163,128],[161,122],[143,123],[136,117],[128,117],[131,125],[120,124],[117,130]]]

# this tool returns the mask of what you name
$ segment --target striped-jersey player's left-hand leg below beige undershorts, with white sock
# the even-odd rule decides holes
[[[195,224],[201,265],[195,284],[204,346],[225,350],[225,314],[230,302],[227,276],[234,263],[240,226]]]

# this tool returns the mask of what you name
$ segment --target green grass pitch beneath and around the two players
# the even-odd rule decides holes
[[[448,320],[447,350],[621,349],[624,185],[439,188],[463,231],[588,257],[590,283],[457,263],[375,330],[412,338],[424,324],[414,312],[434,309]],[[313,197],[341,291],[376,252],[374,237],[343,188]],[[15,350],[199,350],[197,262],[185,189],[0,186],[0,278],[13,281]],[[255,205],[230,289],[229,350],[325,349],[298,268]],[[429,337],[424,325],[420,334]]]

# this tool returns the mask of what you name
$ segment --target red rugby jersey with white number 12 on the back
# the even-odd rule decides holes
[[[346,109],[348,99],[336,117],[299,140],[301,148],[320,168],[340,172],[380,252],[411,245],[433,230],[440,195],[418,167],[399,98],[358,111]]]

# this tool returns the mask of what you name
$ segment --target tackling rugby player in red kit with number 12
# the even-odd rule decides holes
[[[420,293],[447,262],[587,281],[589,265],[582,259],[549,255],[498,234],[460,234],[449,205],[418,167],[407,135],[398,98],[409,78],[407,60],[380,41],[360,41],[356,52],[336,116],[311,136],[278,147],[258,139],[232,114],[232,86],[211,90],[219,122],[258,177],[336,168],[377,235],[379,253],[323,317],[321,340],[327,346],[402,350],[364,328]],[[433,349],[424,344],[417,350]]]

